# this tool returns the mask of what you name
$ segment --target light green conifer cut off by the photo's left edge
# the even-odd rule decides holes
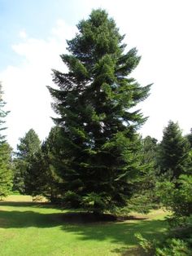
[[[3,134],[3,130],[6,129],[3,126],[4,118],[7,117],[8,112],[3,110],[6,103],[2,99],[2,95],[2,85],[0,84],[0,199],[7,196],[12,187],[11,148]]]

